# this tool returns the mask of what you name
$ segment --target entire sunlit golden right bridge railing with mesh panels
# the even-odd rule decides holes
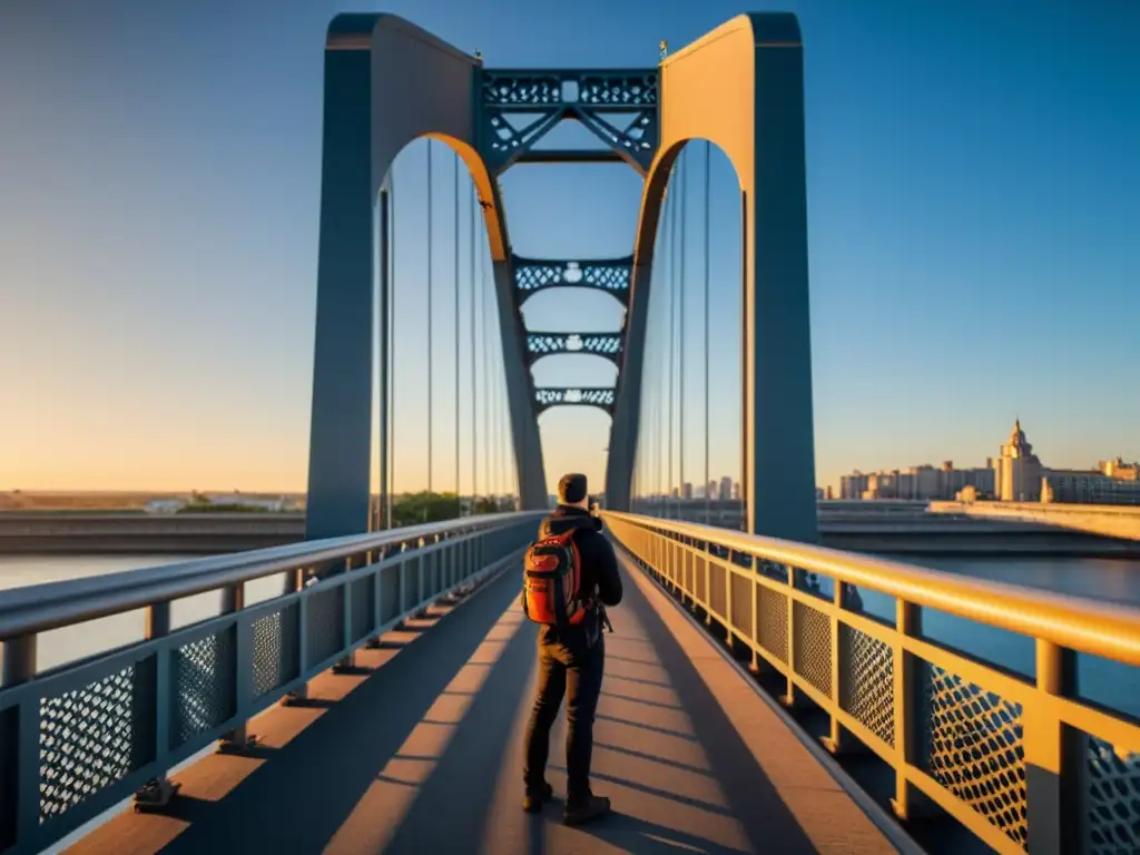
[[[1078,652],[1140,666],[1140,609],[694,523],[605,520],[663,586],[787,678],[787,703],[803,694],[830,716],[829,749],[854,734],[893,767],[902,819],[934,803],[997,852],[1140,852],[1140,720],[1076,687]],[[894,620],[865,613],[861,588],[894,597]],[[923,608],[1034,640],[1035,676],[933,642]]]

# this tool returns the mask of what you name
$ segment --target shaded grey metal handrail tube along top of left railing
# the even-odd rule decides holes
[[[512,519],[538,515],[539,512],[524,511],[465,516],[5,591],[0,592],[0,641],[105,618],[302,567],[351,559],[413,540],[497,527]]]

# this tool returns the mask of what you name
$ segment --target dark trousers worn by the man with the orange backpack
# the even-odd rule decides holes
[[[567,701],[567,805],[585,803],[589,796],[589,763],[594,754],[594,712],[602,692],[605,644],[598,632],[593,645],[586,632],[575,627],[560,640],[556,629],[538,634],[538,691],[527,724],[527,759],[523,781],[540,792],[551,749],[551,727]]]

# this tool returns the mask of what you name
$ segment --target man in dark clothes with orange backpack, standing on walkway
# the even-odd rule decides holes
[[[522,606],[539,624],[538,692],[527,725],[523,809],[536,813],[553,796],[546,783],[551,727],[567,701],[567,801],[563,821],[580,825],[610,809],[589,789],[594,711],[602,691],[606,605],[621,602],[621,577],[602,521],[589,510],[586,477],[563,475],[559,506],[543,520],[527,551]],[[612,630],[611,630],[612,632]]]

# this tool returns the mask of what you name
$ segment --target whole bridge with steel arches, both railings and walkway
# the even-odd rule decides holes
[[[820,545],[803,49],[793,16],[744,15],[652,68],[495,70],[394,16],[336,17],[306,539],[0,594],[0,852],[1140,849],[1140,708],[1086,679],[1140,666],[1140,609]],[[563,120],[606,150],[538,146]],[[425,137],[473,184],[508,418],[471,443],[471,496],[492,512],[459,515],[456,502],[454,519],[397,526],[393,164]],[[648,502],[692,466],[683,439],[676,458],[671,439],[661,454],[662,433],[684,435],[684,382],[665,422],[657,390],[687,314],[670,236],[702,165],[686,149],[702,142],[740,185],[732,527]],[[514,252],[498,179],[549,162],[643,177],[628,256]],[[399,192],[415,193],[402,179]],[[528,328],[523,302],[555,287],[610,294],[621,328]],[[536,385],[535,365],[559,353],[611,363],[616,384]],[[593,779],[614,813],[581,829],[519,804],[536,634],[516,604],[520,556],[547,507],[538,416],[554,406],[611,418],[601,515],[627,592],[595,722]],[[504,437],[505,511],[486,475],[478,490]],[[137,637],[82,656],[54,646],[108,618],[137,619]],[[940,642],[946,619],[1016,637],[1031,666]]]

